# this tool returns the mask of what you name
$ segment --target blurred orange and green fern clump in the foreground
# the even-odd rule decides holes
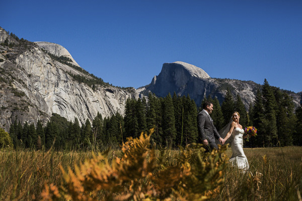
[[[224,182],[226,146],[205,153],[202,145],[159,156],[150,149],[150,135],[128,138],[121,156],[108,160],[107,152],[94,155],[72,171],[62,167],[65,183],[45,185],[44,200],[196,200],[217,196]]]

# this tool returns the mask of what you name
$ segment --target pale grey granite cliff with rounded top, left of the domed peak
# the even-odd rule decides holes
[[[128,97],[138,98],[135,89],[121,89],[109,84],[94,87],[75,80],[71,75],[95,79],[79,66],[68,51],[51,43],[32,43],[15,39],[0,28],[0,125],[7,131],[15,121],[46,123],[52,113],[68,121],[78,118],[81,123],[93,120],[99,112],[110,117],[123,114]],[[43,48],[43,49],[42,49]],[[62,63],[50,57],[66,56]]]

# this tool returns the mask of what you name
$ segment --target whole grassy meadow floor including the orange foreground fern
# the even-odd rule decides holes
[[[302,147],[150,148],[148,137],[104,153],[0,150],[0,200],[301,200]]]

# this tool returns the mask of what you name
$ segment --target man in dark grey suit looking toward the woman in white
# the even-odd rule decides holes
[[[220,137],[213,124],[213,120],[210,117],[212,111],[213,104],[206,101],[203,104],[203,110],[198,113],[197,116],[198,138],[199,140],[201,139],[202,143],[208,148],[208,151],[218,149],[218,146],[215,143],[215,138],[219,139],[220,144],[224,144],[224,140]]]

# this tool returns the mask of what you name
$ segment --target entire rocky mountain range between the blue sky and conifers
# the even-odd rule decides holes
[[[61,56],[70,60],[60,60]],[[92,121],[98,112],[103,118],[123,115],[127,98],[139,98],[149,92],[157,96],[174,91],[177,95],[190,94],[197,106],[208,95],[216,96],[221,103],[228,87],[234,97],[241,95],[248,109],[261,85],[211,78],[197,66],[176,61],[164,63],[160,74],[143,87],[115,87],[85,71],[63,46],[19,39],[0,27],[0,125],[6,131],[15,121],[24,124],[41,120],[45,124],[52,113],[68,121],[77,118],[81,124],[86,119]],[[288,93],[297,106],[299,93]]]

